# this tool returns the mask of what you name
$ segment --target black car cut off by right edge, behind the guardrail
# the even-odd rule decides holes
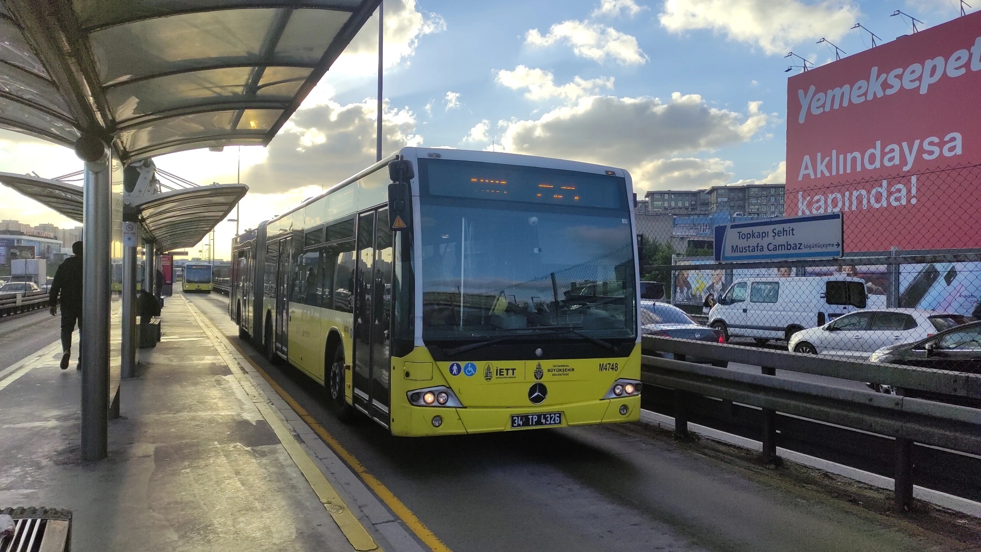
[[[948,328],[913,343],[883,347],[869,357],[872,362],[905,364],[935,370],[981,373],[981,321]],[[981,401],[929,393],[915,389],[894,389],[888,385],[869,384],[876,391],[895,391],[906,397],[917,397],[981,408]]]

